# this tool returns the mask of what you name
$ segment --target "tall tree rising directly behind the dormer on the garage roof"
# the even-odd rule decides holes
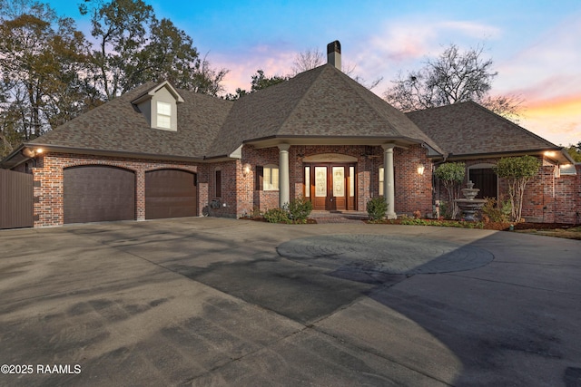
[[[87,5],[88,3],[88,5]],[[87,1],[91,15],[95,85],[107,100],[143,82],[167,80],[178,88],[216,95],[227,70],[214,70],[192,38],[168,19],[158,20],[143,0]]]

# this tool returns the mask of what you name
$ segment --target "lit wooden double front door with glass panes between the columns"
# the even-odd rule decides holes
[[[312,164],[305,166],[305,196],[310,197],[313,209],[342,210],[355,209],[354,177],[350,177],[350,168],[345,164]]]

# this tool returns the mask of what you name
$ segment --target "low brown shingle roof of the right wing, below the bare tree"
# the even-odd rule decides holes
[[[560,149],[476,102],[460,102],[406,114],[451,155]]]

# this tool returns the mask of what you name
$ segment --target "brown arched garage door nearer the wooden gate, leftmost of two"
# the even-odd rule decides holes
[[[89,165],[63,171],[64,223],[135,218],[135,174]]]

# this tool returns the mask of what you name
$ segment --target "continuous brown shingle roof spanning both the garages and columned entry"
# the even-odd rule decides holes
[[[132,102],[159,87],[148,82],[32,141],[75,150],[106,150],[183,158],[231,154],[267,137],[358,137],[427,143],[402,112],[325,64],[236,102],[177,90],[178,130],[152,129]]]

